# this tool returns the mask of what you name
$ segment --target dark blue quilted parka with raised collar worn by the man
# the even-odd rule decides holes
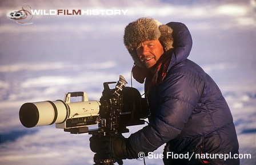
[[[130,145],[138,153],[166,143],[165,164],[239,164],[239,159],[218,158],[238,154],[233,117],[221,90],[199,65],[187,59],[192,47],[187,27],[177,22],[167,26],[173,29],[174,38],[169,69],[162,84],[146,91],[149,125],[130,135]],[[145,90],[150,81],[147,77]],[[167,153],[189,154],[190,159],[167,158]]]

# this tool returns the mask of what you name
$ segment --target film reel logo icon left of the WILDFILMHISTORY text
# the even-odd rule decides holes
[[[13,10],[9,11],[9,13],[6,14],[7,18],[15,20],[19,24],[32,24],[30,20],[33,18],[33,15],[25,9],[25,6],[31,10],[31,7],[24,3],[21,6],[21,10]]]

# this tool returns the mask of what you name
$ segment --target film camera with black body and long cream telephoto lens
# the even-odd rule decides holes
[[[114,84],[114,89],[109,84]],[[143,118],[150,115],[146,98],[135,88],[125,86],[123,76],[118,82],[103,83],[99,101],[89,101],[85,92],[66,93],[64,100],[27,102],[19,110],[19,119],[25,127],[56,124],[71,134],[121,135],[129,132],[127,126],[142,125]],[[82,97],[82,101],[71,102],[71,97]],[[98,125],[90,129],[90,126]],[[109,155],[94,155],[96,164],[113,164]]]

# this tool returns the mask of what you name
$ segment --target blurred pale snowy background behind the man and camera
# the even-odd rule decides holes
[[[123,10],[121,15],[33,15],[30,23],[7,18],[27,3],[33,10]],[[29,10],[28,6],[26,7]],[[189,59],[219,85],[233,114],[240,152],[256,158],[256,2],[225,1],[7,1],[0,2],[0,164],[93,164],[88,134],[55,125],[27,129],[18,112],[25,102],[63,99],[85,91],[99,100],[103,82],[125,76],[133,61],[123,46],[125,26],[141,17],[182,22],[193,48]],[[29,20],[22,20],[27,22]],[[132,80],[143,93],[143,85]],[[142,126],[130,127],[130,133]],[[162,153],[161,146],[155,153]],[[143,164],[125,160],[125,164]],[[162,164],[148,159],[146,164]]]

